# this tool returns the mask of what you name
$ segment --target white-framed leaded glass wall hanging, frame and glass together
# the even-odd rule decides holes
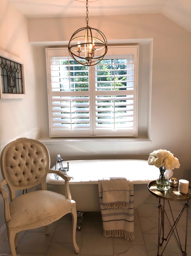
[[[0,72],[0,99],[26,98],[23,61],[0,50]]]

